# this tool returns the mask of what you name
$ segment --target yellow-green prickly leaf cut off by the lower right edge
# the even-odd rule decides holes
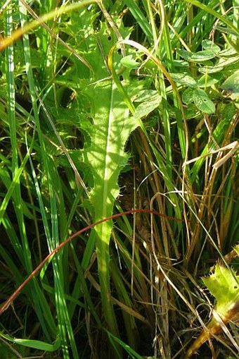
[[[228,311],[239,303],[239,276],[233,269],[216,264],[214,273],[202,281],[217,300],[217,312],[226,317]]]

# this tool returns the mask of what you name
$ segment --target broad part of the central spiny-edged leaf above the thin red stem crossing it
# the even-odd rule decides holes
[[[89,87],[87,94],[93,104],[94,133],[84,158],[91,165],[94,187],[90,199],[98,220],[112,214],[119,195],[117,179],[129,158],[124,145],[138,123],[129,117],[129,109],[111,80]]]

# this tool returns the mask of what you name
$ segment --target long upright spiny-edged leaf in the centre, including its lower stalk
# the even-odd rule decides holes
[[[91,99],[94,130],[91,146],[84,150],[84,159],[91,166],[93,189],[90,201],[94,210],[93,221],[98,221],[112,215],[115,199],[120,193],[118,177],[129,159],[124,145],[131,131],[138,126],[138,121],[129,116],[129,109],[112,80],[88,87],[86,93]],[[117,336],[117,322],[110,300],[109,244],[112,225],[112,221],[104,221],[91,231],[82,267],[86,268],[89,264],[96,244],[103,312],[110,331]]]

